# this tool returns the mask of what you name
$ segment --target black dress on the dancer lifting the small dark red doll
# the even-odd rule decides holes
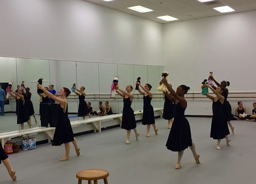
[[[142,124],[155,124],[155,116],[154,109],[151,105],[152,98],[147,96],[143,96],[143,116],[142,116]]]

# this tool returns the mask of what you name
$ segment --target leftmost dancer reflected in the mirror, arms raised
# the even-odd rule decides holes
[[[11,89],[11,96],[16,99],[16,115],[17,115],[17,124],[20,124],[21,130],[24,129],[25,122],[28,123],[29,128],[31,128],[31,122],[29,120],[28,111],[24,106],[24,91],[20,87],[18,93],[13,92]]]

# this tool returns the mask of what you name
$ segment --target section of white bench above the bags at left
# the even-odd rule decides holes
[[[50,141],[53,139],[53,135],[54,135],[54,131],[55,128],[54,127],[41,127],[41,128],[31,128],[31,129],[25,129],[25,130],[21,130],[21,131],[12,131],[12,132],[5,132],[0,134],[0,140],[1,140],[1,144],[2,146],[5,145],[5,142],[7,140],[10,140],[13,137],[18,137],[18,136],[23,136],[23,135],[27,135],[27,134],[33,134],[33,133],[46,133],[47,137],[48,137],[48,142],[50,143]]]

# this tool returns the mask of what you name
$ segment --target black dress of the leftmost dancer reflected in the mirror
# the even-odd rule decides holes
[[[16,115],[17,115],[17,124],[25,123],[29,120],[28,110],[23,104],[21,98],[16,97]]]

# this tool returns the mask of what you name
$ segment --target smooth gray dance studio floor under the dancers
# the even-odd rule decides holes
[[[235,134],[230,147],[209,137],[211,118],[188,118],[192,139],[201,155],[196,164],[190,149],[175,169],[177,152],[165,148],[169,135],[167,121],[156,119],[159,134],[146,137],[146,126],[138,123],[139,140],[131,134],[125,144],[126,131],[120,128],[76,137],[81,155],[71,147],[70,160],[60,162],[64,146],[39,145],[36,150],[10,155],[17,181],[12,182],[3,165],[1,184],[76,184],[76,173],[82,169],[100,168],[109,171],[109,184],[254,184],[256,181],[256,122],[232,121]],[[87,183],[83,181],[82,183]],[[99,181],[99,184],[103,183]]]

